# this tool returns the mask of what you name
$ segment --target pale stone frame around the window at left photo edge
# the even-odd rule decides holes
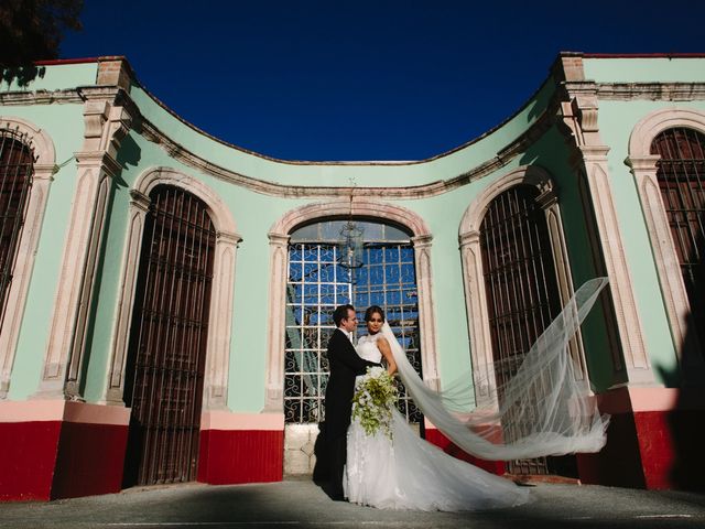
[[[56,153],[54,142],[48,133],[29,121],[13,117],[0,117],[0,129],[14,129],[20,133],[26,134],[31,140],[36,156],[24,226],[18,241],[18,251],[12,269],[12,282],[8,290],[4,321],[0,328],[0,399],[4,399],[10,389],[10,376],[14,364],[50,185],[56,172]]]

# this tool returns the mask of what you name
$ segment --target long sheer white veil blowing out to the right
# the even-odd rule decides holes
[[[576,377],[568,343],[597,300],[606,278],[584,283],[524,356],[517,373],[498,384],[469,415],[448,406],[449,396],[423,384],[389,324],[382,326],[399,376],[416,406],[441,432],[469,454],[485,460],[518,460],[598,452],[609,421],[601,415],[587,377]],[[477,379],[475,385],[477,385]],[[470,391],[473,380],[467,380]],[[456,388],[457,390],[457,388]]]

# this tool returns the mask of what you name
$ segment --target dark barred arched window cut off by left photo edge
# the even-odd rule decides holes
[[[0,130],[0,330],[34,173],[26,136]]]

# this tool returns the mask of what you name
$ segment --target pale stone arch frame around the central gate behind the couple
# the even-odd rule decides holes
[[[419,292],[419,326],[421,337],[421,365],[423,378],[429,387],[438,387],[436,358],[436,326],[433,305],[433,282],[431,274],[432,235],[426,223],[414,212],[383,202],[354,196],[328,203],[310,204],[292,209],[270,229],[270,276],[269,328],[264,411],[283,413],[284,409],[284,322],[286,278],[289,270],[289,238],[299,226],[324,218],[354,217],[378,219],[404,226],[413,234]]]

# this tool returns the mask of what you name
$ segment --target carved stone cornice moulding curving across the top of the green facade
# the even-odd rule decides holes
[[[147,119],[140,111],[139,107],[130,95],[123,89],[116,86],[84,86],[75,89],[66,90],[36,90],[36,91],[7,91],[0,93],[0,104],[6,106],[12,105],[50,105],[50,104],[83,104],[85,101],[105,98],[118,98],[120,104],[128,109],[130,115],[134,116],[133,128],[135,132],[141,134],[148,141],[159,144],[174,160],[185,165],[212,175],[225,182],[248,188],[254,193],[281,197],[337,197],[349,196],[352,192],[356,195],[368,195],[384,188],[384,196],[389,199],[410,199],[425,198],[437,196],[460,186],[467,185],[476,180],[487,176],[497,170],[506,166],[517,155],[524,152],[538,138],[546,132],[556,121],[556,114],[560,108],[561,93],[568,94],[570,97],[596,97],[605,100],[691,100],[705,99],[705,83],[595,83],[592,80],[566,80],[561,83],[563,90],[554,94],[543,112],[531,123],[531,126],[518,138],[508,143],[503,149],[498,151],[494,156],[485,162],[475,165],[467,171],[446,180],[437,180],[426,184],[414,186],[390,187],[389,184],[383,186],[357,186],[354,190],[345,186],[312,186],[312,185],[286,185],[265,180],[256,179],[245,175],[238,171],[226,169],[215,164],[207,159],[194,153],[184,145],[177,143],[169,137],[164,131],[158,128],[153,122]],[[154,99],[158,104],[159,100]],[[161,105],[161,104],[160,104]],[[163,105],[162,105],[163,106]],[[169,109],[167,109],[169,110]],[[170,110],[172,115],[173,111]],[[175,115],[174,115],[175,116]],[[183,120],[182,120],[183,121]],[[195,129],[195,128],[194,128]],[[497,130],[497,128],[491,131]],[[195,129],[197,133],[207,133]],[[482,134],[487,137],[491,131]],[[214,139],[215,140],[215,139]],[[219,141],[219,140],[218,140]],[[477,140],[474,140],[475,142]],[[469,147],[473,142],[466,143],[462,148]],[[223,143],[223,142],[221,142]],[[238,149],[231,145],[234,149]],[[459,148],[459,149],[462,149]],[[239,149],[240,150],[240,149]],[[242,150],[240,150],[242,151]],[[430,163],[448,153],[440,154],[429,160],[417,162],[289,162],[283,160],[270,159],[272,163],[296,164],[296,165],[359,165],[359,166],[404,166]],[[247,151],[243,151],[247,152]],[[252,155],[261,156],[257,153]]]

